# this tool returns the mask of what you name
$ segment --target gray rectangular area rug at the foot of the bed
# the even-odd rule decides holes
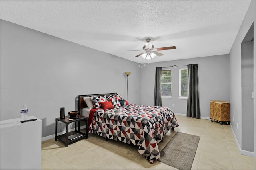
[[[179,170],[191,170],[200,137],[177,132],[160,152],[158,161]]]

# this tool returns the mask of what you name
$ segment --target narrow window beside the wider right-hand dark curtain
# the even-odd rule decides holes
[[[188,98],[188,69],[180,68],[179,70],[179,98]]]

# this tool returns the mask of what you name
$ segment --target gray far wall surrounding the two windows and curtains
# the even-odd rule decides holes
[[[174,113],[186,115],[187,100],[179,99],[179,68],[183,65],[199,64],[199,96],[201,118],[210,118],[210,100],[229,101],[229,55],[216,55],[146,64],[142,69],[141,101],[145,105],[154,104],[154,81],[156,67],[172,67],[172,98],[162,98],[162,106],[169,107]],[[186,68],[186,66],[185,66]],[[162,68],[168,69],[168,68]],[[175,107],[172,107],[175,104]]]

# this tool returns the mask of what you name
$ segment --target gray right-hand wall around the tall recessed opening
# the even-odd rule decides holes
[[[242,22],[240,30],[234,40],[232,48],[230,50],[230,116],[231,116],[231,126],[235,134],[235,138],[238,142],[238,148],[243,148],[242,144],[242,129],[244,128],[244,123],[242,123],[242,71],[241,71],[241,43],[246,36],[251,25],[254,24],[254,39],[256,37],[255,32],[255,10],[256,4],[255,0],[251,1],[251,4],[246,12],[246,16]],[[256,60],[256,46],[254,43],[254,63]],[[254,65],[254,83],[255,83],[255,65]],[[254,84],[255,92],[255,84]],[[233,117],[235,121],[233,121]],[[254,94],[254,140],[255,140],[255,128],[256,128],[256,105],[255,105],[255,94]],[[238,123],[238,125],[235,124]],[[247,133],[244,131],[243,133]],[[254,142],[255,146],[255,142]],[[256,154],[254,147],[254,154]],[[241,152],[241,151],[240,151]]]

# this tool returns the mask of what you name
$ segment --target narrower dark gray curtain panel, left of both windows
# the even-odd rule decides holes
[[[162,106],[161,76],[162,76],[162,67],[156,67],[154,106]]]

